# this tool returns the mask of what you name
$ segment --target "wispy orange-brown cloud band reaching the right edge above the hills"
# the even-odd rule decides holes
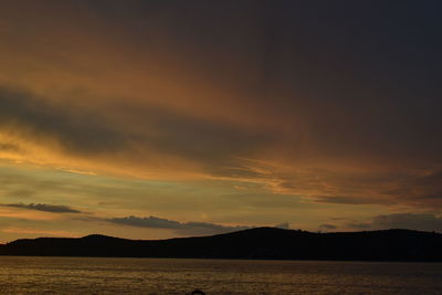
[[[242,169],[251,172],[242,179],[251,179],[272,192],[302,196],[311,202],[324,204],[442,206],[440,169],[398,169],[389,166],[365,169],[335,165],[313,169],[244,161]],[[245,176],[244,172],[242,175]]]

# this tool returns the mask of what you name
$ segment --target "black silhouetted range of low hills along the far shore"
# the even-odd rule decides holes
[[[442,234],[410,230],[312,233],[274,228],[159,241],[93,234],[80,239],[17,240],[1,245],[0,254],[442,262]]]

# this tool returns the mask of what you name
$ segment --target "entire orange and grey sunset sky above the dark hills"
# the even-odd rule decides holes
[[[436,0],[3,0],[0,242],[442,232]]]

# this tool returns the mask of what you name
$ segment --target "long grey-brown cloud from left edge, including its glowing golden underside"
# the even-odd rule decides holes
[[[240,158],[253,155],[272,141],[272,136],[262,131],[146,102],[143,105],[136,102],[81,105],[60,103],[30,91],[0,87],[0,140],[2,136],[12,138],[10,143],[0,141],[0,151],[49,162],[57,156],[56,165],[74,165],[75,169],[84,169],[82,165],[86,165],[85,170],[108,169],[141,176],[152,170],[152,175],[160,170],[170,176],[175,170],[215,176],[230,175],[217,172],[217,169],[225,170],[218,167],[229,166],[232,171],[246,172]],[[29,143],[45,152],[32,155]]]

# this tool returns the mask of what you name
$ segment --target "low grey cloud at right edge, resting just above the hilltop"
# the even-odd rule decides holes
[[[350,223],[364,230],[408,229],[442,232],[442,217],[430,213],[396,213],[375,217],[369,223]]]

